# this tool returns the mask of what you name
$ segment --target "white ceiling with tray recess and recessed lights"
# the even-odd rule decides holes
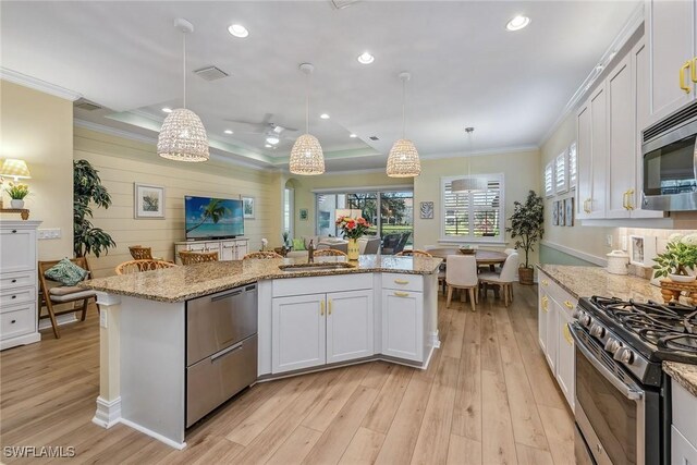
[[[360,1],[337,10],[329,0],[2,1],[0,64],[109,109],[77,110],[78,119],[156,137],[160,108],[181,105],[182,37],[172,22],[184,17],[195,27],[187,107],[201,117],[216,152],[284,163],[305,127],[306,76],[297,65],[310,62],[309,131],[328,171],[378,168],[401,137],[401,71],[412,73],[406,135],[421,155],[537,146],[637,3]],[[530,25],[506,32],[518,13]],[[232,23],[249,37],[231,36]],[[356,61],[364,50],[374,64]],[[230,76],[207,82],[191,73],[208,65]],[[331,119],[320,120],[322,112]],[[225,122],[267,113],[301,130],[285,133],[276,150]],[[463,131],[469,125],[470,145]]]

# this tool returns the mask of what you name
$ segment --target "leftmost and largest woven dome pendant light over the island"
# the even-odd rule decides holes
[[[157,154],[162,158],[176,161],[206,161],[210,157],[206,129],[200,118],[186,109],[186,34],[193,33],[194,26],[180,17],[174,21],[174,27],[180,29],[184,37],[183,108],[172,110],[164,119],[157,138]]]

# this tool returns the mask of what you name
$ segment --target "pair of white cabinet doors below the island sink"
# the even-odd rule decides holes
[[[372,290],[276,297],[271,372],[374,355]]]

